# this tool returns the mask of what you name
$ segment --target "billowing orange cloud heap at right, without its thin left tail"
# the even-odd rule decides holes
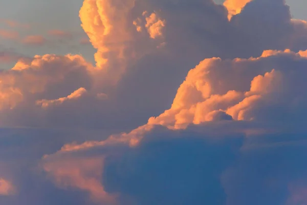
[[[150,118],[148,123],[180,129],[191,123],[210,121],[211,112],[217,111],[224,111],[235,120],[265,120],[267,114],[263,113],[261,117],[260,113],[264,109],[266,112],[273,109],[269,104],[279,105],[280,112],[300,110],[304,91],[296,83],[306,70],[297,66],[293,71],[278,63],[278,59],[285,58],[292,61],[289,65],[294,65],[297,59],[301,63],[306,61],[300,53],[303,55],[304,52],[264,51],[259,58],[205,59],[188,73],[171,108],[156,118]],[[275,105],[275,112],[277,107]],[[287,117],[289,115],[284,113],[282,119]]]

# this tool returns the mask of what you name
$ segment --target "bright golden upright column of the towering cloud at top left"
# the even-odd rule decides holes
[[[97,68],[108,68],[112,61],[124,60],[126,49],[125,42],[132,39],[128,30],[127,16],[135,5],[135,1],[118,1],[121,6],[117,7],[117,2],[103,0],[85,0],[80,9],[80,19],[82,28],[87,33],[94,48],[97,49],[95,60]],[[114,53],[113,55],[109,55]],[[117,73],[121,73],[123,65],[119,66]]]

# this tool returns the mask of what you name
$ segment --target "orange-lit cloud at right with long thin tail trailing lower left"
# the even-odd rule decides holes
[[[82,150],[117,143],[136,146],[144,134],[151,131],[156,125],[179,130],[186,129],[191,124],[198,125],[206,121],[259,120],[261,117],[265,117],[258,114],[259,109],[264,109],[261,106],[266,107],[271,106],[270,103],[273,105],[281,103],[278,97],[273,99],[272,96],[290,94],[291,90],[283,89],[286,84],[289,88],[296,88],[293,79],[287,80],[286,74],[284,74],[287,70],[284,68],[271,69],[269,66],[255,70],[253,66],[267,60],[273,62],[274,58],[268,58],[279,55],[280,59],[282,56],[288,55],[294,59],[299,57],[307,60],[304,56],[289,50],[284,52],[265,51],[264,53],[266,53],[265,56],[250,59],[225,61],[220,58],[205,59],[190,70],[185,81],[179,87],[171,108],[165,110],[158,117],[149,118],[146,125],[129,133],[112,135],[103,141],[87,141],[81,145],[68,144],[63,146],[61,151]],[[304,71],[297,70],[294,76],[301,75],[300,72]],[[300,92],[296,91],[297,95]]]

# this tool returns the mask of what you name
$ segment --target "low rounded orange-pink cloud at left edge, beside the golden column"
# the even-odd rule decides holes
[[[10,117],[3,116],[2,126],[9,125],[6,122],[10,120],[16,125],[18,120],[14,119],[14,112],[24,112],[25,106],[35,110],[37,100],[61,99],[79,88],[91,88],[90,69],[90,64],[77,55],[47,54],[34,56],[33,59],[19,59],[11,70],[0,73],[0,112],[12,112]],[[78,97],[83,93],[81,91],[79,89],[63,100]]]

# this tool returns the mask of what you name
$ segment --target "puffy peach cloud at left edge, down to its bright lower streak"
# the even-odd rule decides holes
[[[13,109],[24,99],[30,100],[33,97],[32,100],[35,100],[35,102],[40,100],[42,105],[58,104],[65,100],[78,98],[86,92],[82,86],[91,84],[91,82],[88,82],[88,69],[91,69],[90,64],[82,56],[77,55],[56,56],[48,54],[36,55],[33,59],[21,58],[11,70],[0,74],[0,98],[2,99],[0,110]],[[69,83],[65,82],[67,80],[65,78],[70,75],[74,76],[76,80],[79,79],[80,82],[87,81],[87,83],[83,85],[81,83],[79,89],[76,88],[78,90],[68,97],[61,98],[59,96],[57,100],[41,100],[42,98],[39,98],[39,93],[45,93],[42,96],[49,98],[47,93],[52,84],[54,86],[62,83],[68,85]],[[83,80],[80,78],[83,78]],[[62,89],[67,90],[67,88]],[[72,92],[72,90],[67,90],[65,94],[67,95],[68,92]]]

